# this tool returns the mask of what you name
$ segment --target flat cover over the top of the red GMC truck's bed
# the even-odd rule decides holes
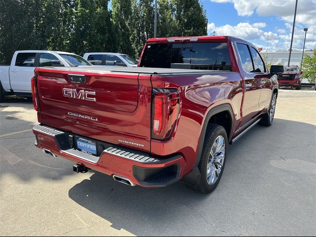
[[[174,68],[142,68],[142,67],[41,67],[37,71],[69,71],[69,72],[88,72],[88,73],[137,73],[137,74],[188,74],[188,73],[223,73],[230,71],[215,70],[192,70],[192,69],[174,69]]]

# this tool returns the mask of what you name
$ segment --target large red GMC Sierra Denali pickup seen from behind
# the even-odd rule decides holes
[[[282,72],[233,37],[148,40],[139,66],[37,68],[35,145],[76,162],[77,173],[212,192],[228,144],[272,124]]]

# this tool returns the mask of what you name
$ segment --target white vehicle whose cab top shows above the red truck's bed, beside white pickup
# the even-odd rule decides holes
[[[137,61],[122,53],[85,53],[83,58],[95,66],[137,67]]]

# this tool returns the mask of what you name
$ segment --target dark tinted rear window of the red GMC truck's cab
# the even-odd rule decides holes
[[[227,43],[149,44],[140,66],[232,71]]]

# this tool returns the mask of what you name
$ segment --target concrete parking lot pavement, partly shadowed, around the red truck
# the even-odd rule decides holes
[[[210,195],[128,187],[35,148],[31,100],[0,104],[0,236],[315,236],[316,91],[282,89]]]

